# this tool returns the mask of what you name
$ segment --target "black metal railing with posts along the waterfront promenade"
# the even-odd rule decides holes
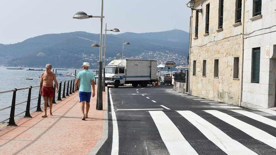
[[[66,82],[67,82],[67,92],[66,92],[66,96],[67,96],[67,94],[68,94],[68,90],[69,90],[69,81],[71,81],[71,85],[70,85],[70,94],[74,93],[75,80],[64,81],[63,95],[62,95],[62,96],[64,96],[64,97],[62,97],[62,98],[66,98],[66,97],[65,97],[65,87],[66,87],[65,83],[66,83]],[[62,101],[62,100],[61,100],[61,84],[62,84],[62,81],[59,83],[59,92],[58,92],[58,96],[55,95],[55,96],[53,97],[52,103],[54,103],[54,104],[56,103],[56,99],[57,99],[58,101]],[[32,118],[32,116],[30,115],[30,110],[31,110],[31,109],[37,108],[36,111],[42,111],[42,110],[41,110],[41,95],[40,95],[40,92],[38,92],[38,97],[35,97],[35,98],[32,98],[32,99],[31,99],[32,89],[33,89],[33,88],[37,88],[37,87],[39,87],[39,85],[38,85],[38,86],[29,86],[29,87],[20,88],[20,89],[16,89],[16,88],[15,88],[14,90],[8,90],[8,91],[2,91],[2,92],[0,92],[0,94],[4,94],[4,93],[8,93],[8,92],[13,92],[13,98],[12,98],[12,104],[11,104],[11,106],[8,106],[8,107],[5,107],[5,108],[0,109],[0,111],[3,111],[3,110],[5,110],[5,109],[11,108],[10,117],[7,118],[7,119],[5,119],[5,120],[3,120],[3,121],[0,121],[0,123],[3,123],[3,122],[5,122],[5,121],[8,121],[8,120],[9,120],[9,121],[8,121],[8,126],[15,126],[15,127],[16,127],[17,125],[15,124],[14,117],[19,116],[19,115],[21,115],[21,114],[23,114],[23,113],[25,112],[25,116],[24,116],[24,117]],[[55,88],[55,91],[56,91],[56,85],[54,86],[54,88]],[[26,90],[26,89],[29,89],[27,101],[23,101],[23,102],[20,102],[20,103],[15,104],[15,102],[16,102],[16,93],[17,93],[17,91],[19,91],[19,90]],[[73,90],[73,91],[71,92],[71,90]],[[69,96],[69,94],[68,94],[68,96]],[[30,101],[33,101],[33,100],[36,100],[36,99],[38,99],[38,101],[37,101],[37,106],[34,106],[34,107],[30,108]],[[26,104],[26,110],[23,111],[23,112],[20,112],[19,114],[16,114],[16,115],[15,115],[15,114],[14,114],[14,113],[15,113],[15,106],[21,105],[21,104],[23,104],[23,103],[27,103],[27,104]],[[47,106],[49,106],[49,100],[48,100]]]

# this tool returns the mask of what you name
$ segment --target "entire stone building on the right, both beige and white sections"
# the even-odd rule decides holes
[[[276,0],[190,2],[195,5],[189,93],[237,106],[274,107]]]

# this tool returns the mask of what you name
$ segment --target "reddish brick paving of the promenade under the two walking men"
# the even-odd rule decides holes
[[[96,110],[96,96],[91,98],[86,121],[81,120],[81,104],[77,93],[74,93],[53,104],[53,116],[50,116],[49,109],[47,118],[41,117],[44,112],[34,112],[31,114],[33,118],[17,120],[18,127],[2,128],[0,154],[88,154],[102,138],[103,132],[104,110]],[[104,103],[105,92],[103,109]]]

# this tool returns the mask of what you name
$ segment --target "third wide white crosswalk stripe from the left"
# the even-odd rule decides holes
[[[269,133],[264,132],[263,130],[258,129],[257,127],[247,124],[223,112],[220,112],[217,110],[204,110],[204,111],[210,113],[211,115],[219,118],[222,121],[225,121],[231,126],[238,128],[239,130],[241,130],[242,132],[245,132],[249,136],[261,142],[264,142],[273,148],[276,148],[276,137],[270,135]]]

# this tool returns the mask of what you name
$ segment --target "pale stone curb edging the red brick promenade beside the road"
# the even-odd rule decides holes
[[[103,146],[104,142],[108,137],[108,88],[105,88],[105,105],[104,105],[104,130],[103,137],[101,140],[97,142],[97,144],[93,147],[93,149],[88,153],[88,155],[96,155],[99,149]]]

